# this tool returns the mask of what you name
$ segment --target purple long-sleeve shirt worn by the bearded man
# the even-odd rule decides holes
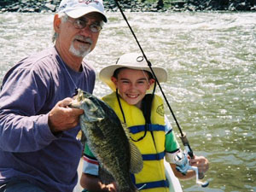
[[[73,96],[76,86],[92,93],[96,74],[84,61],[82,72],[64,66],[53,47],[25,58],[5,75],[0,93],[0,184],[17,177],[47,192],[70,192],[77,183],[80,127],[53,135],[49,111]]]

